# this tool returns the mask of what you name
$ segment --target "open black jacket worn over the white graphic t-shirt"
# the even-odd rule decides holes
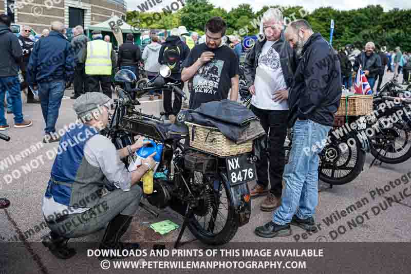
[[[247,88],[254,84],[255,70],[258,66],[258,58],[266,42],[266,39],[261,42],[257,40],[254,47],[247,53],[247,57],[244,62],[244,74],[246,77]],[[287,86],[290,87],[293,81],[293,74],[297,66],[297,60],[295,58],[294,50],[290,47],[289,43],[285,41],[284,31],[281,33],[280,39],[278,39],[278,41],[273,44],[272,47],[279,54],[284,79],[287,83]]]

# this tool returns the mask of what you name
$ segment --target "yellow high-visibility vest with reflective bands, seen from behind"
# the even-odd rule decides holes
[[[111,43],[103,40],[87,42],[87,75],[111,75]]]

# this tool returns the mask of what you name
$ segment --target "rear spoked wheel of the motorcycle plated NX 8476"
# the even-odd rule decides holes
[[[219,190],[214,193],[214,179],[200,172],[194,172],[192,180],[194,184],[206,184],[207,193],[190,216],[188,228],[191,233],[202,243],[209,245],[230,242],[238,230],[238,216],[231,205],[230,190],[218,179]]]

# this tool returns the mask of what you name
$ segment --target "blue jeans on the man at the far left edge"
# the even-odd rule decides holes
[[[23,122],[22,92],[18,76],[0,77],[0,125],[7,125],[4,116],[4,97],[8,93],[7,101],[10,100],[14,114],[14,123]]]

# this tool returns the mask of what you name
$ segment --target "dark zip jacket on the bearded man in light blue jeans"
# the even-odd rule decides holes
[[[312,34],[303,47],[288,94],[288,127],[297,118],[332,126],[340,105],[341,85],[338,55],[320,33]]]

